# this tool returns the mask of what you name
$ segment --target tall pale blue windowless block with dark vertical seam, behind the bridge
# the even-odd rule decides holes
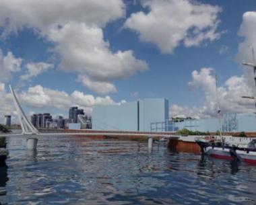
[[[168,122],[167,99],[152,98],[120,105],[95,106],[92,110],[92,129],[150,131],[153,122]]]

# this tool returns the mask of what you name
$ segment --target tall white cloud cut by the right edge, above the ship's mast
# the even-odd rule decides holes
[[[239,63],[243,61],[248,61],[253,63],[253,56],[251,48],[256,50],[256,12],[248,11],[243,14],[243,22],[241,24],[240,30],[238,31],[238,36],[244,38],[238,46],[238,53],[236,55],[236,60]]]

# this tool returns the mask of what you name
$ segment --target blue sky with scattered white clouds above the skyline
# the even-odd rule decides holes
[[[170,116],[255,112],[254,0],[1,0],[0,120],[168,99]],[[216,89],[216,78],[217,86]],[[218,94],[217,94],[218,93]],[[219,103],[218,103],[219,101]],[[0,121],[0,122],[1,122]]]

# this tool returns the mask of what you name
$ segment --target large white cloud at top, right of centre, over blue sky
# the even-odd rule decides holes
[[[135,30],[143,42],[157,44],[163,53],[172,53],[177,46],[199,46],[220,38],[216,31],[220,20],[218,6],[191,0],[143,0],[148,13],[132,13],[125,28]]]

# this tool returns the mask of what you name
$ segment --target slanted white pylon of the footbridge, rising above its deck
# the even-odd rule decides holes
[[[13,91],[13,88],[11,85],[9,85],[9,88],[11,90],[11,94],[13,96],[14,105],[16,108],[16,111],[19,116],[20,125],[22,126],[22,134],[39,134],[38,130],[34,127],[34,125],[28,120],[26,115],[24,114],[22,107],[19,104],[19,101],[15,95],[15,92]]]

